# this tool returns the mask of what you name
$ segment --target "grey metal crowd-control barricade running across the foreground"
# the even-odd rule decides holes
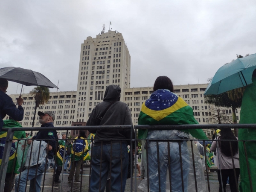
[[[133,130],[135,129],[135,133],[137,132],[137,130],[140,130],[140,129],[148,129],[148,130],[186,130],[186,129],[215,129],[215,132],[217,129],[222,129],[222,128],[248,128],[248,129],[255,129],[256,128],[256,124],[246,124],[246,125],[240,125],[240,124],[212,124],[212,125],[151,125],[151,126],[148,126],[148,125],[135,125],[134,128],[132,125],[122,125],[122,126],[79,126],[79,127],[40,127],[40,128],[3,128],[2,131],[7,131],[7,136],[6,136],[6,143],[5,143],[5,147],[4,147],[4,151],[3,151],[3,158],[2,158],[2,163],[1,163],[1,168],[0,168],[0,192],[3,192],[3,186],[4,186],[4,183],[5,183],[5,177],[6,177],[6,171],[7,171],[7,166],[8,166],[8,162],[9,162],[9,154],[10,154],[10,151],[11,151],[11,148],[12,148],[12,141],[13,141],[13,136],[14,136],[14,131],[40,131],[40,130],[56,130],[56,131],[60,131],[60,130],[66,130],[66,135],[68,134],[68,131],[69,130],[87,130],[87,129],[90,129],[90,130],[100,130],[100,129],[108,129],[109,131],[111,130],[125,130],[125,129],[130,129],[132,130],[131,131],[131,138],[132,139],[126,139],[126,140],[118,140],[118,139],[111,139],[111,140],[108,140],[108,139],[105,139],[105,140],[108,140],[108,143],[110,145],[110,160],[109,160],[109,166],[108,166],[108,170],[106,170],[107,168],[105,167],[106,166],[106,163],[104,162],[104,151],[103,151],[103,147],[104,147],[104,141],[105,140],[100,140],[101,141],[101,145],[98,145],[100,146],[100,150],[99,150],[99,156],[100,156],[100,171],[99,171],[99,189],[102,188],[102,186],[106,185],[106,172],[108,173],[108,176],[109,176],[109,183],[111,183],[111,172],[113,170],[112,169],[112,166],[111,163],[112,163],[112,152],[116,152],[116,151],[113,151],[113,143],[120,143],[118,145],[120,145],[120,154],[125,154],[125,153],[128,153],[127,151],[122,151],[122,143],[127,143],[130,145],[130,150],[131,150],[131,153],[130,153],[130,172],[131,172],[131,175],[130,175],[130,182],[126,182],[126,186],[123,186],[122,184],[122,181],[123,180],[126,180],[127,179],[127,175],[123,175],[122,174],[122,169],[123,167],[126,167],[128,166],[128,164],[124,164],[124,162],[122,161],[122,157],[120,158],[120,172],[121,172],[121,175],[120,175],[120,180],[121,180],[121,183],[120,183],[120,191],[123,191],[125,189],[125,191],[141,191],[140,189],[137,189],[137,186],[138,184],[140,183],[140,180],[137,180],[137,168],[136,168],[136,165],[137,165],[137,158],[136,158],[136,148],[137,148],[137,144],[136,144],[136,140],[140,140],[140,139],[137,139],[135,138],[134,135],[132,135],[133,133]],[[133,139],[135,138],[135,139]],[[61,183],[60,185],[58,185],[59,187],[59,191],[62,191],[64,190],[64,177],[66,177],[67,175],[64,174],[64,163],[65,163],[65,157],[66,157],[66,149],[67,149],[67,141],[69,140],[74,140],[74,139],[65,139],[66,142],[65,142],[65,145],[64,145],[64,154],[63,154],[63,164],[62,164],[62,170],[61,170],[61,177],[60,177],[60,180],[61,180]],[[96,141],[97,139],[91,139],[92,141]],[[117,141],[116,141],[117,140]],[[178,143],[178,151],[179,151],[179,163],[180,163],[180,178],[181,178],[181,191],[183,192],[186,192],[186,181],[184,181],[184,170],[183,170],[183,159],[182,159],[182,142],[183,141],[186,141],[186,142],[189,142],[191,143],[191,151],[192,151],[192,167],[193,167],[193,176],[194,176],[194,183],[195,183],[195,192],[198,192],[198,185],[200,185],[200,183],[198,183],[197,181],[197,177],[196,177],[196,170],[195,170],[195,157],[194,157],[194,154],[197,152],[197,151],[194,151],[194,148],[192,147],[193,146],[193,142],[195,141],[196,139],[180,139],[180,140],[150,140],[150,139],[144,139],[145,141],[145,146],[148,146],[148,143],[149,142],[156,142],[156,159],[157,159],[157,172],[158,172],[158,187],[159,187],[159,191],[161,191],[161,177],[160,177],[160,149],[159,149],[159,145],[161,144],[161,142],[166,142],[166,146],[167,146],[167,151],[168,151],[168,157],[167,157],[167,167],[168,167],[168,174],[171,175],[172,173],[172,170],[170,169],[171,167],[171,160],[170,160],[170,142],[177,142]],[[39,143],[39,151],[40,151],[40,147],[41,147],[41,142],[42,140],[38,140],[40,143]],[[57,142],[58,140],[56,140]],[[213,141],[213,140],[202,140],[203,141],[203,146],[204,146],[204,156],[205,156],[205,165],[206,165],[206,170],[208,168],[207,166],[207,156],[206,156],[206,145],[205,145],[205,142],[206,141]],[[219,141],[219,140],[218,140]],[[229,141],[230,142],[230,150],[232,151],[232,145],[231,145],[231,142],[235,141],[235,140],[225,140],[225,141]],[[246,156],[246,162],[247,162],[247,168],[248,168],[248,174],[249,174],[249,179],[250,179],[250,189],[251,189],[251,192],[253,192],[253,187],[252,187],[252,178],[251,178],[251,175],[250,175],[250,168],[249,168],[249,162],[248,162],[248,158],[247,158],[247,148],[246,148],[246,145],[245,145],[245,142],[247,141],[256,141],[256,138],[255,140],[236,140],[238,142],[243,142],[243,146],[244,146],[244,151],[245,151],[245,156]],[[27,140],[25,139],[25,143],[27,142]],[[31,144],[31,150],[33,148],[33,143]],[[91,147],[91,154],[93,154],[93,143],[92,142],[92,147]],[[49,140],[48,140],[48,145],[49,145]],[[75,143],[76,145],[76,143]],[[17,147],[18,147],[18,142],[17,142]],[[17,148],[16,147],[16,148]],[[134,157],[134,154],[132,153],[132,149],[135,149],[135,157]],[[217,142],[217,148],[218,148],[218,142]],[[149,181],[149,166],[151,166],[149,164],[149,161],[148,161],[148,151],[146,151],[146,169],[147,169],[147,181]],[[17,154],[17,151],[15,152]],[[47,151],[47,156],[46,156],[46,161],[48,160],[48,153],[49,151]],[[55,154],[57,153],[57,147],[55,147]],[[15,155],[16,155],[15,154]],[[234,163],[234,158],[233,158],[233,153],[232,154],[232,163],[233,163],[233,171],[234,171],[234,175],[235,175],[235,178],[236,178],[236,169],[235,169],[235,163]],[[31,154],[30,154],[31,155]],[[36,169],[35,169],[35,176],[38,175],[38,161],[39,161],[39,153],[38,153],[38,157],[37,157],[37,164],[36,164]],[[24,153],[23,153],[23,156],[24,156]],[[82,157],[84,156],[84,151],[83,151],[83,154],[82,154]],[[134,157],[134,165],[133,165],[133,157]],[[217,151],[217,157],[219,157],[219,151]],[[55,165],[56,165],[56,155],[55,155]],[[93,158],[93,157],[92,157]],[[22,158],[23,160],[23,158]],[[30,163],[30,160],[31,160],[31,156],[29,158],[29,163]],[[16,159],[14,161],[16,163]],[[220,161],[218,161],[220,162]],[[15,164],[14,163],[14,164]],[[22,162],[23,163],[23,162]],[[70,163],[71,163],[71,160],[70,160]],[[103,164],[102,164],[103,163]],[[47,162],[46,162],[47,164]],[[55,167],[54,165],[54,167]],[[75,161],[73,160],[73,163],[71,166],[75,166]],[[134,169],[135,168],[135,169]],[[13,166],[13,170],[15,169],[15,166]],[[31,168],[28,168],[27,169],[27,172],[29,173],[29,170]],[[134,171],[134,176],[133,176],[133,169],[135,170]],[[12,170],[12,174],[15,174],[13,173],[13,170]],[[45,185],[45,180],[46,180],[46,172],[47,172],[47,166],[45,166],[44,170],[43,171],[40,171],[40,175],[42,177],[42,188],[41,190],[42,191],[45,191],[45,188],[44,188],[44,185]],[[90,191],[90,185],[91,185],[91,174],[92,174],[92,164],[90,163],[90,169],[89,169],[89,174],[86,175],[86,176],[89,176],[89,180],[83,180],[83,176],[84,176],[84,173],[83,173],[83,169],[81,169],[81,183],[80,183],[80,186],[78,187],[78,185],[74,186],[73,184],[73,179],[72,179],[72,182],[70,183],[69,187],[70,187],[70,191]],[[55,177],[55,169],[53,170],[53,179]],[[19,187],[20,185],[20,175],[17,176],[18,177],[18,183],[16,183]],[[27,186],[27,182],[28,182],[28,178],[29,177],[29,174],[27,175],[26,177],[26,186]],[[104,177],[104,178],[103,178]],[[221,174],[221,170],[220,170],[220,177],[222,177],[222,174]],[[72,177],[73,178],[73,177]],[[104,180],[102,180],[102,178]],[[52,186],[51,186],[51,191],[53,192],[54,191],[54,180],[52,179]],[[113,178],[112,178],[113,179]],[[206,185],[207,185],[207,191],[211,191],[211,187],[210,187],[210,181],[209,181],[209,173],[206,172],[206,176],[205,176],[205,179],[206,179]],[[66,180],[66,178],[65,178]],[[128,180],[127,180],[128,181]],[[222,181],[222,180],[221,180]],[[35,180],[34,180],[35,182]],[[236,179],[236,189],[238,191],[238,183],[239,181]],[[150,182],[147,182],[147,191],[149,192],[150,191]],[[31,185],[31,184],[30,184]],[[172,191],[172,178],[169,177],[169,190]],[[35,184],[33,185],[34,187],[34,191],[35,191]],[[65,186],[66,187],[66,186]],[[75,188],[74,188],[75,187]],[[224,188],[224,185],[223,183],[221,183],[221,188],[223,190]],[[26,190],[26,189],[25,189]],[[105,190],[106,191],[111,191],[111,184],[110,185],[107,185],[105,186]],[[56,190],[55,190],[56,191]]]

